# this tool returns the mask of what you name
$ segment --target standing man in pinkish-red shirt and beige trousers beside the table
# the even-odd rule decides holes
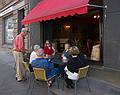
[[[25,36],[28,34],[26,28],[22,28],[21,33],[18,34],[13,41],[13,55],[16,62],[16,80],[18,82],[23,80],[23,74],[25,72],[23,65],[23,53],[25,49]]]

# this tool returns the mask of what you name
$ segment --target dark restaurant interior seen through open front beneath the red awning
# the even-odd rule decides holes
[[[96,0],[95,0],[96,1]],[[89,4],[102,5],[102,0],[90,0]],[[99,43],[102,46],[103,9],[100,7],[89,7],[88,13],[62,17],[60,19],[43,22],[44,41],[52,40],[57,44],[58,52],[64,50],[64,43],[71,41],[77,45],[88,58],[91,56],[93,45]],[[100,56],[102,49],[100,48]],[[102,57],[100,57],[100,61]]]

